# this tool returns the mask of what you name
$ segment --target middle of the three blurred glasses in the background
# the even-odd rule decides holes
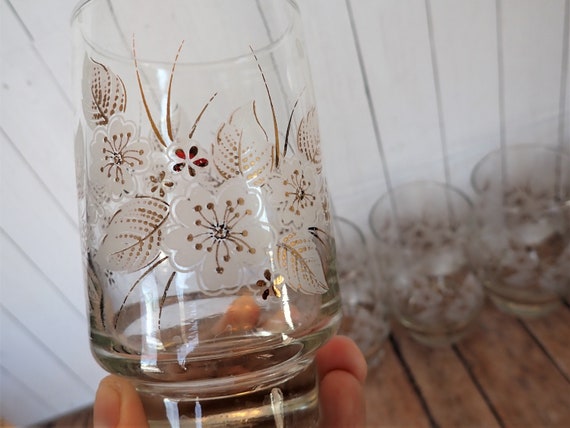
[[[429,346],[461,339],[484,300],[467,241],[472,204],[458,189],[413,182],[384,194],[370,213],[390,310],[410,335]]]

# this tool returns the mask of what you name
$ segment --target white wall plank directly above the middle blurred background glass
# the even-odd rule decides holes
[[[425,2],[350,4],[391,181],[444,181]]]

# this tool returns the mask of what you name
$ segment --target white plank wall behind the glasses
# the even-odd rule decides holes
[[[260,0],[263,1],[263,0]],[[0,418],[89,404],[70,97],[75,0],[0,0]],[[338,215],[501,144],[570,150],[569,0],[299,0]]]

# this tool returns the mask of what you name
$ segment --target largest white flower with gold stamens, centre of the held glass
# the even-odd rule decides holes
[[[226,185],[217,195],[194,187],[173,203],[178,223],[164,239],[164,251],[177,270],[202,264],[199,283],[206,292],[235,289],[245,266],[262,263],[272,241],[262,219],[260,196],[245,181]]]

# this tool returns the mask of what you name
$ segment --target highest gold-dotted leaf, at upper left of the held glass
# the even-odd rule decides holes
[[[127,91],[119,76],[107,66],[86,58],[83,77],[83,110],[91,126],[106,125],[127,108]]]

